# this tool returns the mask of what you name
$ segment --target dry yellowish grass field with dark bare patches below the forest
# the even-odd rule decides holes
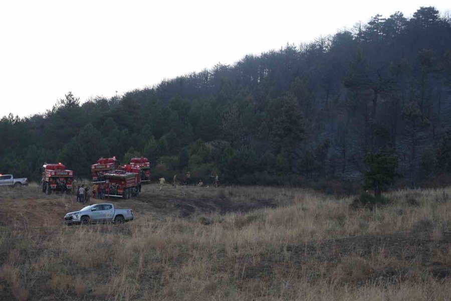
[[[4,188],[0,299],[451,299],[450,195],[370,211],[296,188],[146,185],[113,202],[134,221],[66,227],[70,196]]]

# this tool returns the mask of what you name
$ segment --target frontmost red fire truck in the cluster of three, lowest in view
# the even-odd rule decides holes
[[[141,191],[140,170],[130,165],[121,167],[122,170],[114,170],[103,173],[106,184],[106,197],[118,197],[130,199]]]

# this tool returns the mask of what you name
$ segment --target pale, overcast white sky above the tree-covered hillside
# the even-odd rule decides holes
[[[44,113],[448,1],[2,1],[0,116]]]

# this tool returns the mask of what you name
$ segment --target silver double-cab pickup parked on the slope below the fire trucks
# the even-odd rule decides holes
[[[69,212],[64,217],[66,225],[87,225],[89,223],[123,224],[133,220],[133,210],[114,209],[113,204],[94,204],[87,206],[80,211]]]

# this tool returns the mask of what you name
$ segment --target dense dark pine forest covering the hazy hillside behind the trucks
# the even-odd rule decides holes
[[[69,92],[44,114],[3,117],[0,141],[0,172],[34,180],[45,161],[88,178],[100,157],[145,156],[154,178],[360,183],[367,154],[391,149],[398,184],[439,184],[451,173],[451,18],[376,15],[110,99]]]

